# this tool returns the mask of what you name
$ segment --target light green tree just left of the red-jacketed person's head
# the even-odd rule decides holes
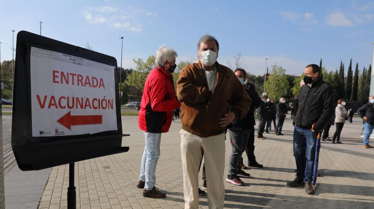
[[[127,75],[125,83],[130,87],[129,92],[138,98],[140,103],[140,98],[143,95],[145,80],[148,74],[154,66],[155,57],[153,55],[149,56],[147,61],[142,59],[132,59],[135,62],[135,70],[131,71]]]

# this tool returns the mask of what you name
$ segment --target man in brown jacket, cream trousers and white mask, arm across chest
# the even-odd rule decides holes
[[[182,103],[181,157],[185,208],[198,208],[199,163],[204,153],[209,208],[223,208],[225,132],[246,116],[251,98],[230,68],[218,64],[219,44],[204,35],[197,44],[199,62],[187,65],[177,81]],[[230,108],[229,108],[230,106]]]

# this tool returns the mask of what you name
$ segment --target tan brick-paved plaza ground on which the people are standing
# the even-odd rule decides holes
[[[3,115],[4,141],[10,137],[12,116]],[[258,124],[258,121],[256,121]],[[138,117],[123,116],[122,146],[127,153],[115,154],[76,163],[75,185],[77,208],[183,208],[183,177],[180,154],[180,120],[172,122],[168,133],[162,134],[161,155],[156,169],[156,187],[168,193],[165,199],[145,198],[135,184],[139,178],[140,161],[144,150],[144,135],[138,128]],[[256,126],[257,128],[257,126]],[[344,144],[322,142],[319,173],[314,195],[303,187],[291,188],[286,182],[295,178],[295,159],[292,153],[292,121],[287,116],[283,126],[284,136],[264,134],[265,140],[255,139],[255,155],[264,168],[251,168],[246,172],[251,178],[242,180],[243,186],[225,182],[225,208],[374,208],[374,149],[362,148],[361,119],[346,123],[341,133]],[[335,126],[330,129],[330,138]],[[256,134],[257,135],[257,134]],[[228,136],[228,135],[227,135]],[[374,139],[371,139],[374,144]],[[5,146],[5,144],[4,144]],[[226,167],[231,153],[226,141]],[[245,156],[245,155],[243,155]],[[246,161],[246,157],[244,157]],[[11,163],[8,163],[11,165]],[[8,168],[10,169],[10,168]],[[15,165],[13,169],[18,169]],[[12,170],[5,181],[12,179]],[[21,172],[21,171],[20,171]],[[41,193],[38,208],[67,208],[68,166],[42,170],[49,175]],[[27,174],[28,172],[23,172]],[[29,175],[30,181],[40,173]],[[207,174],[209,175],[209,174]],[[40,179],[43,179],[40,175]],[[26,177],[23,177],[27,179]],[[201,172],[199,184],[202,187]],[[7,191],[13,191],[6,185]],[[22,190],[22,185],[18,185]],[[209,191],[208,191],[209,192]],[[40,197],[38,196],[40,195]],[[200,196],[200,207],[208,208],[207,196]],[[6,194],[6,204],[7,202]],[[14,207],[13,207],[14,208]]]

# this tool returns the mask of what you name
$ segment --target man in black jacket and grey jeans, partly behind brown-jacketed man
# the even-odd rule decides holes
[[[254,143],[254,139],[250,138],[250,132],[252,129],[254,129],[254,108],[260,106],[262,101],[260,97],[258,97],[254,85],[248,83],[245,70],[238,68],[234,73],[238,77],[239,81],[243,84],[249,97],[251,97],[252,104],[246,116],[243,119],[232,122],[233,125],[229,128],[232,152],[229,160],[229,173],[227,175],[226,182],[234,185],[243,185],[244,182],[240,180],[240,178],[249,178],[250,175],[241,169],[242,153],[246,149],[249,141],[252,145]]]

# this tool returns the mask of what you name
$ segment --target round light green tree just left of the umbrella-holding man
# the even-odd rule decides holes
[[[273,64],[269,79],[266,80],[264,86],[267,90],[267,95],[269,95],[273,101],[279,101],[280,98],[285,96],[286,91],[289,90],[286,69]]]

